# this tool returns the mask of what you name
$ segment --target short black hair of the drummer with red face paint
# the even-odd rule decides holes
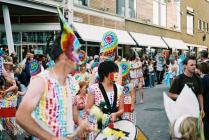
[[[104,61],[100,63],[98,68],[100,82],[104,81],[104,78],[107,77],[109,73],[118,71],[118,65],[113,61]]]

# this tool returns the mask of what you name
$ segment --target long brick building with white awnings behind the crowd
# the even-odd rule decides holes
[[[196,53],[208,47],[207,0],[0,0],[0,45],[8,44],[3,5],[9,9],[15,50],[22,59],[28,51],[44,50],[59,31],[56,7],[69,17],[69,3],[76,34],[88,55],[98,54],[98,33],[108,30],[119,36],[119,55],[130,47],[188,48]]]

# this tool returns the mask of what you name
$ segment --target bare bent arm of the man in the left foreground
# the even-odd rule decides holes
[[[44,94],[45,83],[42,78],[35,78],[31,81],[25,97],[16,113],[17,123],[28,133],[41,140],[51,140],[53,136],[43,130],[31,117],[31,113],[38,105],[41,96]]]

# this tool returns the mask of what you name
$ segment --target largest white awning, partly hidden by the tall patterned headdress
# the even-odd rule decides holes
[[[101,42],[103,34],[107,31],[113,31],[118,36],[118,44],[136,45],[127,31],[110,29],[88,24],[73,23],[73,27],[84,41]]]

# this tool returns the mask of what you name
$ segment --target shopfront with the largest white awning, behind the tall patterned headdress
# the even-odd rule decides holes
[[[76,34],[82,45],[82,49],[85,50],[88,56],[94,56],[99,54],[99,47],[103,37],[103,34],[107,31],[113,31],[118,37],[118,55],[124,57],[125,53],[131,46],[135,46],[136,43],[131,38],[127,31],[110,29],[100,26],[93,26],[81,23],[73,23]]]

